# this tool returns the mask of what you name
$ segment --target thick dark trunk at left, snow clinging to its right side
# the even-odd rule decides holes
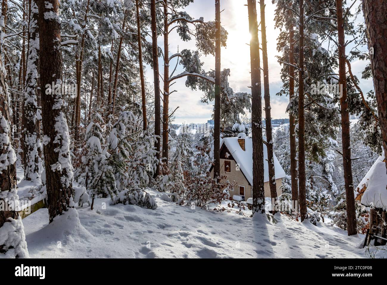
[[[50,5],[51,4],[51,5]],[[42,97],[43,152],[45,155],[48,214],[50,223],[69,207],[72,198],[70,138],[63,113],[62,94],[53,92],[62,84],[62,53],[58,0],[38,1],[40,84]],[[45,17],[50,14],[51,17]],[[52,86],[54,82],[55,86]],[[51,87],[50,87],[51,86]]]

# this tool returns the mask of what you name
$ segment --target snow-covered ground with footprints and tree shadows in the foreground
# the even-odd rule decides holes
[[[48,225],[47,209],[23,219],[31,257],[366,257],[364,236],[276,215],[250,218],[235,211],[178,206],[152,191],[156,210],[110,205],[70,209]],[[106,203],[106,209],[104,209]],[[248,212],[248,211],[247,211]],[[248,213],[245,214],[248,214]],[[99,214],[100,213],[100,214]],[[79,219],[77,218],[79,215]]]

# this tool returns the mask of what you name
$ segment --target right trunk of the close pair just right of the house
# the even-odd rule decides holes
[[[304,1],[300,0],[300,43],[298,72],[298,189],[301,222],[308,218],[305,178],[305,118],[304,118]]]

